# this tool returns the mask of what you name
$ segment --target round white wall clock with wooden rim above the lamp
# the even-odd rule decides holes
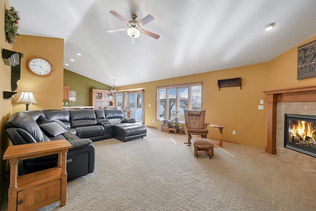
[[[40,56],[30,58],[27,67],[33,75],[40,77],[50,76],[54,71],[52,64]]]

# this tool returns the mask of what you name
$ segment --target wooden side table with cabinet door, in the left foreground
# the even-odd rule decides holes
[[[9,146],[3,160],[10,161],[8,211],[37,210],[60,200],[66,204],[66,156],[73,146],[65,139]],[[57,167],[18,176],[18,161],[58,154]]]

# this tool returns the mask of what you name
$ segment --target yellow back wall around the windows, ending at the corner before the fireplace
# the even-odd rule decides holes
[[[242,78],[242,88],[219,90],[218,79]],[[202,108],[206,108],[206,122],[224,128],[224,140],[264,147],[266,145],[266,112],[258,110],[262,92],[267,89],[267,64],[257,64],[221,71],[196,74],[173,79],[120,86],[119,89],[145,87],[145,125],[160,127],[156,120],[156,87],[172,84],[203,82]],[[153,106],[149,107],[148,104]],[[154,120],[154,123],[152,123]],[[220,138],[218,128],[208,127],[209,137]],[[233,135],[236,130],[236,135]]]

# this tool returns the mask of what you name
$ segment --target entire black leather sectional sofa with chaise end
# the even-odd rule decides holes
[[[4,126],[14,145],[67,139],[73,148],[67,154],[68,180],[94,171],[93,141],[117,138],[129,141],[146,136],[147,127],[121,110],[43,110],[14,113]],[[23,161],[26,173],[57,165],[57,155]]]

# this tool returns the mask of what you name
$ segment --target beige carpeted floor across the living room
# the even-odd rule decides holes
[[[93,142],[95,171],[68,182],[66,206],[41,211],[316,210],[315,169],[227,142],[195,158],[186,137],[148,128],[143,139]]]

